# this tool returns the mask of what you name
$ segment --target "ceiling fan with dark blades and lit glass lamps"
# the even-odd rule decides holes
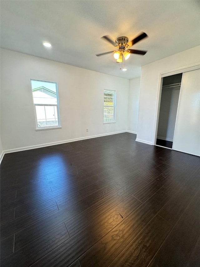
[[[136,38],[134,38],[132,41],[128,40],[128,37],[126,36],[121,36],[118,37],[115,42],[113,42],[108,35],[103,36],[102,38],[104,38],[105,40],[107,40],[109,43],[113,44],[117,51],[109,51],[109,52],[105,52],[105,53],[101,53],[101,54],[96,54],[96,56],[103,56],[106,54],[110,54],[113,53],[114,54],[114,58],[117,59],[117,62],[122,62],[123,61],[123,57],[124,59],[128,59],[130,57],[130,54],[140,54],[140,55],[145,55],[147,53],[147,51],[143,51],[143,50],[135,50],[135,49],[129,49],[130,47],[132,47],[134,44],[138,43],[139,41],[141,41],[142,39],[148,37],[148,35],[146,33],[141,33],[140,35],[138,35]]]

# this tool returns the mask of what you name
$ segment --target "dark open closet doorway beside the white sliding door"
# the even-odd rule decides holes
[[[156,145],[173,148],[178,101],[183,73],[163,78]]]

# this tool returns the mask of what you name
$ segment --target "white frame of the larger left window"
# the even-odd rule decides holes
[[[33,102],[33,106],[34,106],[34,113],[35,113],[35,123],[36,123],[36,131],[42,131],[42,130],[50,130],[50,129],[61,129],[61,125],[60,125],[60,112],[59,112],[59,102],[58,102],[58,86],[57,86],[57,82],[52,82],[52,81],[44,81],[44,80],[35,80],[35,79],[31,79],[31,81],[38,81],[38,82],[47,82],[47,83],[52,83],[55,84],[56,86],[56,98],[57,98],[57,105],[55,104],[34,104],[34,100],[33,100],[33,94],[32,94],[32,102]],[[31,82],[31,92],[32,92],[32,82]],[[58,115],[58,125],[57,126],[41,126],[38,127],[38,122],[37,122],[37,112],[36,112],[36,106],[56,106],[57,107],[57,115]]]

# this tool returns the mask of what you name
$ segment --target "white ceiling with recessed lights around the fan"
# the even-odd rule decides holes
[[[140,76],[141,66],[200,44],[200,1],[1,1],[1,47],[126,79]],[[133,49],[124,67],[100,39],[148,38]],[[47,49],[42,42],[48,41]]]

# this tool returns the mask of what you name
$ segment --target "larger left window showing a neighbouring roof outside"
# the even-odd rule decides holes
[[[36,129],[60,127],[57,83],[31,80]]]

